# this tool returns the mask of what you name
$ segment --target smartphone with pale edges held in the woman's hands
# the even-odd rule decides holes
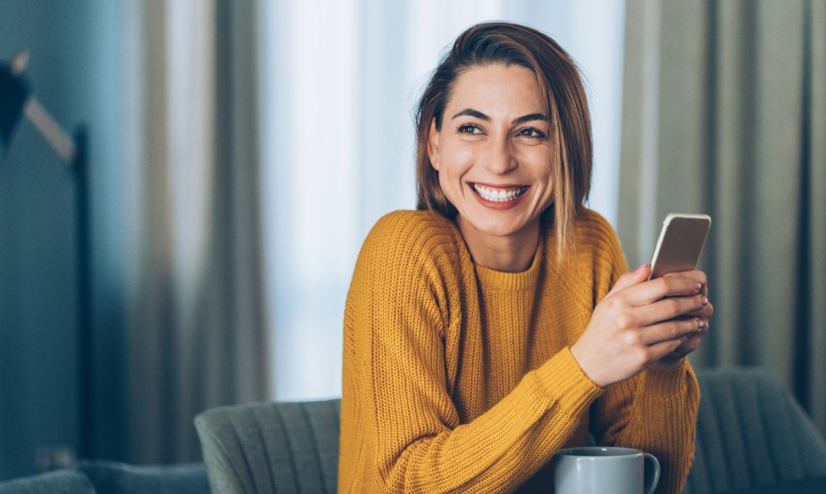
[[[710,227],[709,215],[672,212],[666,216],[662,221],[648,279],[695,269]]]

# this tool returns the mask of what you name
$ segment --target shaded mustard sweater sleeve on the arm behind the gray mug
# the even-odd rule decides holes
[[[613,287],[626,270],[619,240],[613,234],[606,249],[619,259],[610,273]],[[605,297],[608,290],[601,295]],[[606,388],[591,408],[591,431],[599,444],[643,449],[657,457],[661,473],[657,493],[677,494],[694,458],[695,423],[700,401],[691,364],[672,369],[651,366]]]

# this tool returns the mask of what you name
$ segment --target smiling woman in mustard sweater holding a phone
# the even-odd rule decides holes
[[[705,274],[624,273],[582,206],[591,126],[548,36],[458,37],[417,115],[418,211],[365,240],[344,313],[339,492],[548,492],[565,447],[644,449],[659,492],[691,466]]]

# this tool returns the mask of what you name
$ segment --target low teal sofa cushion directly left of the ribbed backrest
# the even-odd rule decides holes
[[[98,494],[209,494],[207,468],[203,463],[132,465],[110,461],[82,461]]]

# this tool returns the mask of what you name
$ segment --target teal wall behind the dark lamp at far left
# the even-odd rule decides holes
[[[28,48],[32,92],[85,124],[93,171],[93,449],[123,459],[121,121],[124,2],[0,0],[0,59]],[[0,479],[36,450],[79,445],[78,278],[71,176],[28,121],[0,154]]]

